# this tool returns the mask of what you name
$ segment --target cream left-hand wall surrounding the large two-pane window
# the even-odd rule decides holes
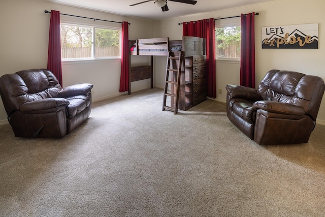
[[[50,14],[45,10],[56,10],[72,14],[112,21],[128,21],[129,39],[152,38],[153,21],[136,19],[98,11],[51,4],[39,0],[2,0],[0,2],[0,76],[24,69],[46,68]],[[112,22],[60,16],[61,22],[79,24],[121,25]],[[148,57],[132,58],[133,65],[150,63]],[[63,86],[76,83],[94,85],[93,100],[100,100],[127,92],[119,92],[120,59],[89,60],[62,63]],[[143,65],[143,64],[142,64]],[[132,82],[132,90],[150,87],[150,80]],[[7,114],[0,103],[0,124],[7,123]]]

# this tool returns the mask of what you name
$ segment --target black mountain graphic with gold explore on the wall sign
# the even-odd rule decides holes
[[[289,49],[298,49],[298,48],[304,48],[304,49],[317,49],[318,48],[318,37],[312,36],[310,37],[310,40],[306,40],[307,35],[302,33],[300,30],[295,29],[292,33],[288,35],[286,38],[287,42],[290,40],[291,37],[294,37],[295,43],[283,43],[283,44],[277,44],[277,42],[284,41],[284,37],[279,36],[277,34],[273,34],[269,40],[267,41],[268,44],[266,44],[266,39],[262,41],[262,48],[266,49],[281,49],[281,48],[289,48]],[[301,46],[303,44],[303,46]]]

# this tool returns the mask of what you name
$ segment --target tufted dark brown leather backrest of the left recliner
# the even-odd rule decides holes
[[[56,77],[47,69],[22,70],[0,79],[0,92],[8,115],[25,102],[58,97],[61,89]]]

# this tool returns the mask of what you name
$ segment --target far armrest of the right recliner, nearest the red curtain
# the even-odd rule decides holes
[[[225,88],[231,98],[242,98],[253,101],[262,100],[262,97],[259,95],[257,89],[251,87],[228,84],[225,86]]]

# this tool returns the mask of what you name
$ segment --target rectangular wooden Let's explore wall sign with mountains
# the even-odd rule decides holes
[[[318,23],[262,27],[264,49],[318,49]]]

